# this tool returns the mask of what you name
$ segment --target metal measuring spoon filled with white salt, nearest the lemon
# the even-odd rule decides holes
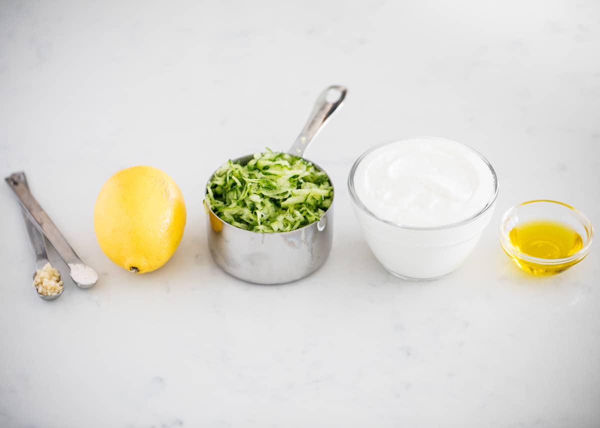
[[[26,184],[25,174],[13,173],[9,177],[6,177],[5,180],[19,198],[19,202],[29,219],[32,220],[38,229],[43,231],[44,235],[46,235],[47,239],[56,249],[58,255],[67,263],[71,271],[71,279],[77,284],[77,287],[94,287],[98,281],[98,274],[94,269],[86,266],[81,261],[56,225],[50,220],[50,217],[35,200]]]

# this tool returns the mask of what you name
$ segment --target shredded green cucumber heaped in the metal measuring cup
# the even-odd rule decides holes
[[[206,186],[212,211],[254,232],[289,232],[318,221],[331,206],[329,177],[311,162],[267,149],[247,165],[226,162]]]

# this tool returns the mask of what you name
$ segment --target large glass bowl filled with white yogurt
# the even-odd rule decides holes
[[[374,255],[407,279],[434,279],[460,266],[490,222],[498,194],[483,156],[432,137],[367,150],[350,170],[348,187]]]

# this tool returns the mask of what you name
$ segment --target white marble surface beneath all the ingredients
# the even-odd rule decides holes
[[[532,198],[600,224],[599,52],[595,0],[0,2],[0,170],[26,171],[100,273],[38,299],[0,186],[0,426],[600,426],[600,248],[539,279],[498,244]],[[294,284],[236,281],[209,258],[203,184],[286,149],[331,83],[347,103],[308,153],[338,189],[331,257]],[[500,177],[475,254],[425,284],[374,260],[345,188],[359,153],[410,135],[470,144]],[[136,164],[188,207],[143,276],[92,225],[104,180]]]

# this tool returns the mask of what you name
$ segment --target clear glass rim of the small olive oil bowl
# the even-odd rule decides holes
[[[514,214],[514,212],[516,210],[518,210],[520,207],[522,207],[524,205],[528,205],[528,204],[535,204],[535,203],[557,204],[557,205],[563,206],[565,208],[568,208],[569,212],[574,213],[578,217],[578,219],[581,221],[584,228],[586,229],[586,231],[587,231],[586,244],[583,247],[581,247],[581,249],[579,251],[575,252],[574,254],[571,254],[569,257],[562,257],[562,258],[533,257],[532,255],[521,252],[517,248],[515,248],[515,246],[512,245],[511,240],[508,237],[508,234],[510,233],[512,228],[511,228],[511,230],[506,230],[505,224],[506,224],[506,222],[508,222],[508,219]],[[543,218],[541,218],[541,219],[543,219]],[[554,265],[559,265],[559,264],[570,263],[575,260],[582,260],[584,257],[586,257],[587,253],[590,251],[590,246],[592,245],[593,237],[594,237],[594,227],[592,225],[592,222],[590,222],[590,219],[587,218],[587,216],[583,212],[581,212],[574,206],[571,206],[564,202],[554,201],[551,199],[534,199],[534,200],[530,200],[530,201],[521,202],[520,204],[512,206],[508,210],[506,210],[506,212],[502,216],[502,220],[500,221],[500,244],[502,245],[502,248],[504,249],[504,251],[510,257],[514,256],[521,260],[529,261],[530,263],[539,264],[539,265],[543,265],[543,266],[554,266]]]

